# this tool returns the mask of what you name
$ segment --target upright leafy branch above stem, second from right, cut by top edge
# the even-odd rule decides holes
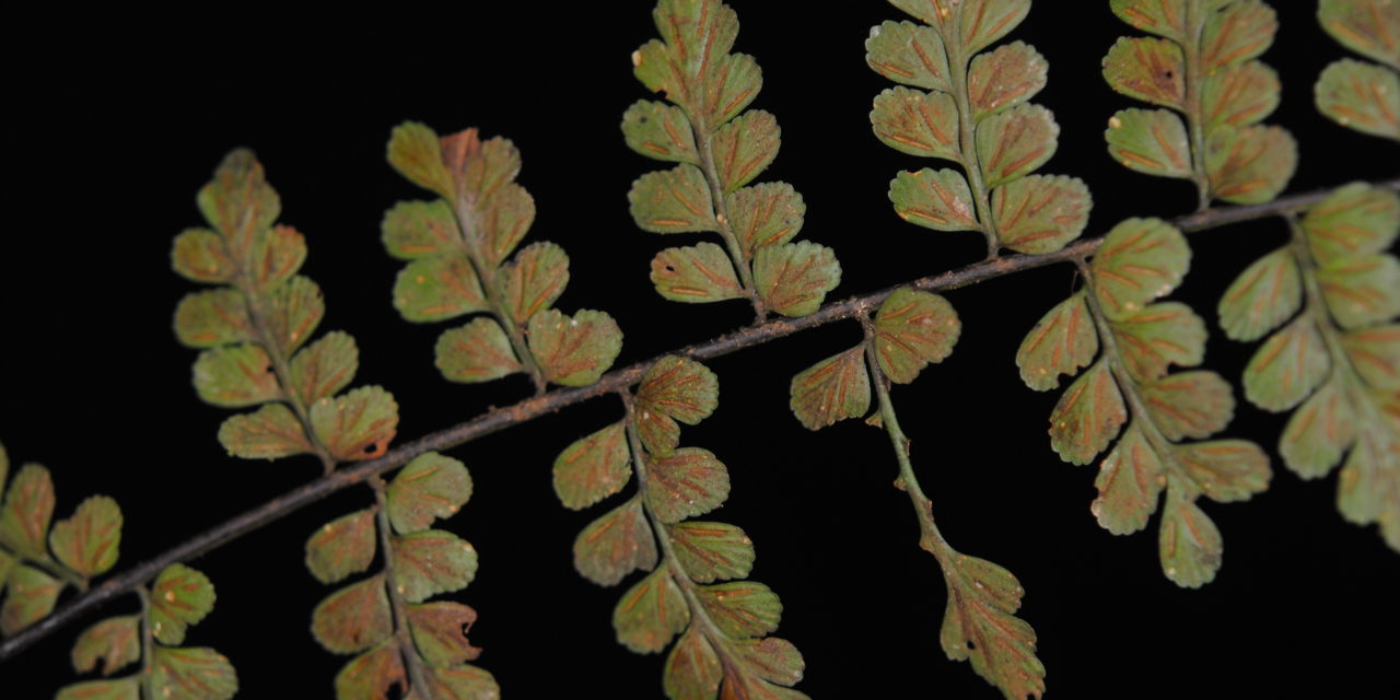
[[[1278,106],[1278,76],[1252,60],[1273,43],[1277,18],[1260,0],[1190,4],[1112,0],[1120,20],[1162,38],[1120,38],[1103,57],[1105,80],[1169,109],[1113,115],[1109,154],[1138,172],[1194,181],[1201,209],[1212,197],[1268,202],[1298,164],[1287,132],[1256,126]]]

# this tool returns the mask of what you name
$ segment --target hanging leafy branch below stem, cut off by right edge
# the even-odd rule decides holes
[[[1225,335],[1268,336],[1245,368],[1245,398],[1296,409],[1278,444],[1284,463],[1305,479],[1343,463],[1338,510],[1379,524],[1400,550],[1400,260],[1386,253],[1400,197],[1351,183],[1289,227],[1292,241],[1221,298]]]

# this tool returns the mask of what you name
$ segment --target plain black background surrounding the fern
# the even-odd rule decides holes
[[[783,126],[783,150],[760,179],[791,182],[805,196],[802,238],[834,248],[844,269],[832,298],[980,259],[980,235],[904,224],[886,199],[896,171],[925,165],[879,144],[867,118],[888,83],[864,66],[862,42],[899,11],[875,1],[732,4],[742,24],[736,50],[755,55],[764,71],[753,108]],[[1289,190],[1394,175],[1394,146],[1315,112],[1312,83],[1345,53],[1317,29],[1315,4],[1274,4],[1282,28],[1264,59],[1285,87],[1270,122],[1301,141]],[[307,234],[304,273],[328,302],[321,329],[356,336],[357,384],[395,393],[400,440],[529,393],[519,377],[442,381],[433,344],[449,326],[409,325],[389,304],[399,263],[378,242],[381,216],[396,200],[427,196],[385,164],[389,129],[400,120],[440,133],[479,126],[515,140],[525,162],[519,182],[539,204],[529,241],[559,242],[573,260],[557,305],[610,312],[626,333],[619,365],[749,322],[745,304],[669,304],[647,279],[658,249],[699,239],[644,234],[627,214],[631,181],[662,167],[629,151],[617,127],[627,105],[648,97],[629,55],[655,34],[650,7],[461,3],[449,13],[337,8],[295,20],[228,7],[223,15],[13,24],[0,253],[0,440],[11,459],[53,470],[59,517],[87,494],[115,496],[126,514],[119,567],[318,476],[309,458],[227,458],[214,433],[228,412],[195,398],[196,353],[171,332],[176,301],[193,288],[169,272],[171,238],[202,224],[193,195],[235,146],[258,151],[281,195],[281,221]],[[1133,31],[1107,3],[1044,0],[1009,36],[1050,60],[1050,84],[1036,101],[1056,112],[1061,134],[1042,171],[1088,182],[1095,210],[1085,235],[1194,204],[1190,183],[1133,174],[1105,151],[1106,119],[1133,105],[1099,76],[1121,34]],[[1233,274],[1284,239],[1278,221],[1193,235],[1191,273],[1175,298],[1215,329],[1215,300]],[[956,351],[895,392],[944,533],[1025,585],[1022,616],[1040,636],[1050,697],[1393,693],[1400,556],[1375,526],[1340,518],[1336,475],[1305,483],[1275,455],[1266,494],[1207,504],[1226,556],[1200,591],[1162,575],[1156,518],[1126,538],[1095,524],[1093,468],[1060,462],[1046,437],[1058,392],[1026,389],[1012,363],[1022,335],[1072,287],[1072,269],[1060,265],[951,293],[965,325]],[[799,689],[813,697],[997,697],[938,647],[942,578],[916,545],[907,498],[890,487],[896,468],[885,435],[860,421],[811,434],[787,409],[792,374],[858,339],[855,323],[841,323],[710,363],[721,378],[720,409],[682,441],[729,466],[732,494],[713,518],[755,540],[752,578],[781,595],[777,634],[806,658]],[[1252,351],[1217,330],[1207,365],[1238,382]],[[1273,454],[1287,416],[1236,398],[1226,435]],[[508,697],[661,694],[659,657],[626,651],[609,623],[636,577],[603,589],[573,571],[575,533],[605,508],[566,511],[549,484],[557,451],[619,414],[616,400],[598,399],[452,451],[472,469],[476,496],[445,526],[477,547],[482,567],[451,598],[480,612],[472,630],[486,650],[479,664]],[[218,605],[189,643],[235,662],[241,697],[332,696],[346,658],[307,631],[330,588],[302,567],[302,543],[368,498],[350,489],[193,563],[213,578]],[[7,697],[49,697],[71,679],[67,648],[80,630],[0,666]],[[15,687],[22,690],[10,694]]]

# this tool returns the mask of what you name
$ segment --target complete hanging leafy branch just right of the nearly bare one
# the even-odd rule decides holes
[[[1061,459],[1084,465],[1117,440],[1099,465],[1091,512],[1109,532],[1127,535],[1147,526],[1166,491],[1162,571],[1196,588],[1215,578],[1224,553],[1219,531],[1196,501],[1246,500],[1268,486],[1270,469],[1249,441],[1183,442],[1219,433],[1235,413],[1218,374],[1169,374],[1172,365],[1200,365],[1205,354],[1205,322],[1184,304],[1156,301],[1182,283],[1190,256],[1186,238],[1165,221],[1120,223],[1092,262],[1081,263],[1085,288],[1036,323],[1016,365],[1036,391],[1089,365],[1056,405],[1050,444]]]

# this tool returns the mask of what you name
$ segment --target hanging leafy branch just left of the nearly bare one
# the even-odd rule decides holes
[[[729,473],[710,451],[679,447],[679,423],[696,424],[718,406],[718,378],[682,357],[652,363],[636,393],[622,391],[626,416],[554,461],[554,490],[568,508],[617,494],[634,473],[637,491],[574,540],[574,567],[599,585],[650,571],[613,610],[617,641],[638,654],[671,647],[662,685],[672,699],[804,699],[802,655],[766,637],[783,612],[778,596],[743,578],[753,543],[734,525],[694,521],[729,496]],[[679,641],[672,640],[680,636]]]

